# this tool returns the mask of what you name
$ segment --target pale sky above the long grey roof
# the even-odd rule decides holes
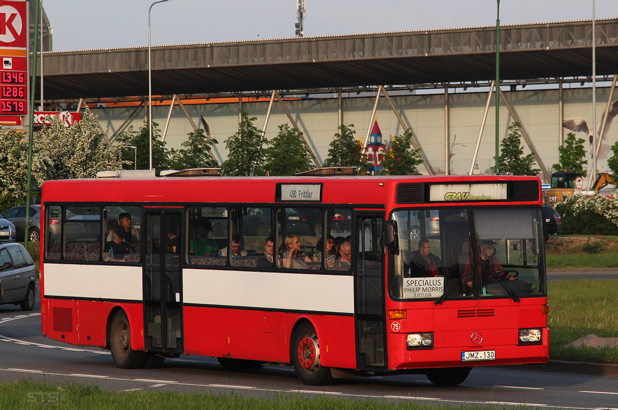
[[[148,46],[154,0],[41,0],[53,50]],[[496,25],[496,0],[306,0],[305,36]],[[170,0],[151,11],[151,44],[295,36],[296,0]],[[500,24],[592,19],[593,0],[502,0]],[[596,19],[618,17],[616,0],[596,0]]]

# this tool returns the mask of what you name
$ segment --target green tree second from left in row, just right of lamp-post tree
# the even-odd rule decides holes
[[[171,169],[191,168],[218,168],[219,162],[210,156],[213,144],[218,143],[214,138],[205,135],[201,128],[187,134],[188,140],[180,144],[187,149],[170,149]]]

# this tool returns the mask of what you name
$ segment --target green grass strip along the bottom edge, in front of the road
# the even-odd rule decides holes
[[[411,395],[413,395],[411,393]],[[3,410],[32,408],[110,410],[176,410],[230,409],[230,410],[460,410],[460,404],[400,402],[375,399],[307,398],[297,395],[277,395],[255,398],[201,392],[177,391],[107,391],[96,386],[75,384],[49,385],[29,380],[0,384],[0,408]],[[496,407],[494,407],[496,408]],[[465,409],[492,409],[487,406],[465,406]],[[497,408],[496,408],[497,409]]]

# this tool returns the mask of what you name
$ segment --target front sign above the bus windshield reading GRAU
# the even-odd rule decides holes
[[[507,199],[506,183],[454,183],[430,186],[430,201],[497,201]]]

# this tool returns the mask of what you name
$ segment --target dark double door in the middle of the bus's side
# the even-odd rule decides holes
[[[184,353],[180,210],[146,209],[144,264],[144,325],[146,349]]]

